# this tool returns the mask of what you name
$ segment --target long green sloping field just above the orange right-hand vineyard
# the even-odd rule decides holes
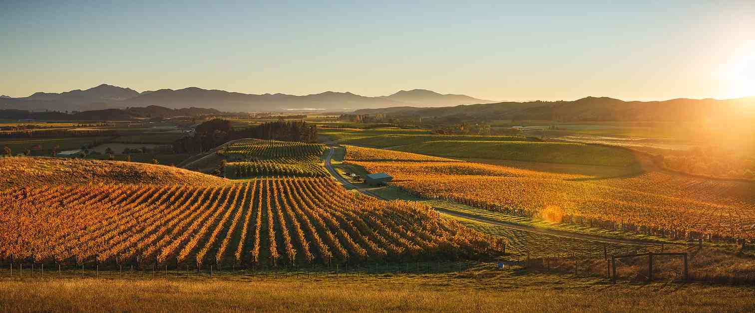
[[[444,140],[414,143],[395,150],[448,158],[489,158],[513,161],[627,167],[636,157],[625,149],[581,143],[537,143]]]

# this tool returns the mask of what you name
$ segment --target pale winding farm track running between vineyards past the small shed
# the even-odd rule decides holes
[[[328,172],[330,172],[331,175],[333,175],[335,179],[338,180],[339,183],[344,185],[344,187],[346,187],[347,189],[356,189],[356,191],[361,192],[364,195],[368,195],[370,197],[378,198],[381,200],[387,200],[385,198],[382,198],[379,195],[375,195],[374,193],[370,192],[368,188],[359,188],[359,186],[356,186],[353,183],[349,183],[346,179],[344,179],[344,177],[342,177],[341,174],[339,174],[333,168],[333,165],[331,164],[331,157],[333,156],[334,150],[335,149],[333,146],[328,146],[328,156],[325,157],[325,168],[328,169]],[[517,229],[517,230],[521,230],[525,232],[535,232],[535,233],[544,234],[544,235],[554,235],[554,236],[559,236],[559,237],[583,239],[583,240],[589,240],[589,241],[602,241],[602,242],[612,243],[612,244],[645,244],[645,245],[658,245],[658,246],[661,245],[659,243],[652,242],[652,241],[606,238],[606,237],[597,236],[597,235],[579,234],[575,232],[560,231],[556,229],[538,229],[533,226],[525,226],[525,225],[520,225],[520,224],[515,224],[515,223],[510,223],[510,222],[501,222],[494,219],[488,219],[482,216],[475,216],[471,214],[445,210],[440,207],[433,207],[433,210],[436,210],[439,213],[446,214],[449,216],[456,216],[456,217],[461,217],[464,219],[471,219],[476,222],[485,222],[492,225],[504,226],[510,229]]]

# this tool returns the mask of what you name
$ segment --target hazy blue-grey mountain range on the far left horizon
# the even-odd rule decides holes
[[[86,90],[60,94],[37,92],[29,97],[0,97],[0,109],[29,111],[83,111],[123,109],[131,106],[164,106],[170,109],[188,107],[214,108],[226,112],[267,112],[323,109],[352,111],[387,106],[456,106],[460,104],[495,103],[461,94],[438,94],[414,89],[382,97],[365,97],[350,92],[326,91],[321,94],[242,94],[188,87],[178,90],[137,92],[131,88],[100,84]]]

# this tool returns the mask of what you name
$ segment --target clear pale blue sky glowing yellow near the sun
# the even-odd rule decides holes
[[[98,84],[485,100],[755,95],[755,1],[0,0],[0,94]]]

